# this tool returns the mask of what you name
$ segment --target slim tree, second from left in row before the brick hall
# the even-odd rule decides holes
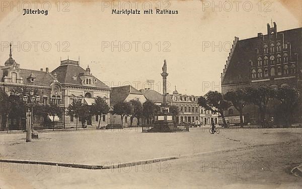
[[[226,92],[224,99],[226,101],[230,101],[232,106],[239,112],[240,114],[240,125],[243,127],[243,108],[247,104],[247,93],[245,90],[236,90]]]

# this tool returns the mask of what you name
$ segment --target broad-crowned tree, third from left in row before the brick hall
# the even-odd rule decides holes
[[[269,101],[275,97],[275,89],[268,86],[248,87],[246,92],[247,102],[258,106],[261,126],[264,127],[267,106]]]

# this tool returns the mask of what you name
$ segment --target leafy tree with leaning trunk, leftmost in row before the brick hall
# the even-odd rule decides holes
[[[209,91],[204,97],[198,99],[198,105],[205,110],[210,110],[221,115],[223,125],[227,126],[224,118],[224,111],[231,107],[230,102],[224,100],[223,95],[218,91]]]

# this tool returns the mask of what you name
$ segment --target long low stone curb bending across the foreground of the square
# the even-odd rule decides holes
[[[114,169],[114,168],[122,168],[122,167],[130,167],[130,166],[135,166],[135,165],[155,163],[155,162],[160,162],[160,161],[168,161],[168,160],[172,160],[172,159],[178,159],[178,158],[177,157],[166,157],[166,158],[150,159],[150,160],[143,160],[143,161],[118,163],[118,164],[113,164],[113,165],[109,165],[109,166],[72,164],[72,163],[55,163],[55,162],[46,162],[46,161],[8,160],[8,159],[0,159],[0,162],[52,165],[52,166],[62,166],[62,167],[71,167],[71,168],[82,168],[82,169]]]

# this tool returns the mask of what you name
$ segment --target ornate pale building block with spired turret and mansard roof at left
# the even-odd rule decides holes
[[[0,78],[0,88],[8,94],[11,93],[12,89],[18,87],[34,90],[35,95],[39,96],[39,101],[35,102],[38,105],[56,104],[66,110],[75,99],[81,100],[86,105],[92,105],[94,98],[98,96],[106,99],[106,102],[110,105],[110,87],[93,76],[89,66],[83,69],[80,66],[80,59],[78,61],[69,60],[69,58],[61,60],[60,65],[51,72],[48,68],[45,71],[43,69],[40,71],[22,69],[20,64],[13,59],[12,49],[10,48],[9,59],[4,66],[0,65]],[[47,129],[49,126],[45,124],[44,119],[34,114],[33,127]],[[87,122],[88,127],[96,127],[99,119],[101,119],[101,126],[110,123],[109,115],[103,117],[92,116]],[[6,119],[3,115],[0,115],[0,130],[6,129],[7,120],[9,130],[25,129],[20,116]],[[56,117],[55,123],[58,128],[75,128],[76,120],[63,113]]]

